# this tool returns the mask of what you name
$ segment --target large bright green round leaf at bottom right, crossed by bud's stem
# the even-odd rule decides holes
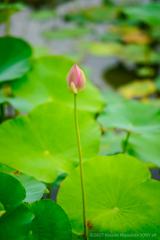
[[[156,233],[159,239],[160,183],[150,179],[150,172],[142,162],[119,154],[89,159],[83,167],[89,239],[93,239],[91,233],[148,232]],[[79,167],[63,181],[58,204],[68,214],[73,231],[83,234]],[[106,236],[101,234],[101,239]],[[98,240],[99,235],[94,235],[94,239]]]

